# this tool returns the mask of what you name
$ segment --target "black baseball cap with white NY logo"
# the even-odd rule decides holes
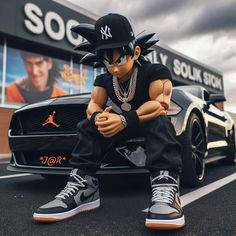
[[[133,29],[126,17],[110,13],[95,23],[96,50],[119,48],[135,40]]]

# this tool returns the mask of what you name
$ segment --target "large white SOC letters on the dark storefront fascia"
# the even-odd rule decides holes
[[[82,42],[82,37],[73,35],[71,27],[79,24],[74,19],[64,22],[63,18],[54,11],[43,13],[39,6],[34,3],[26,3],[24,6],[26,19],[25,27],[33,34],[43,34],[44,31],[52,40],[60,41],[67,38],[72,45],[78,45]],[[53,27],[54,26],[54,27]]]

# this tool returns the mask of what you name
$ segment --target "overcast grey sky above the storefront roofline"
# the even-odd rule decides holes
[[[169,47],[221,71],[226,109],[236,113],[235,0],[69,0],[99,16],[125,15],[134,32],[156,32]]]

